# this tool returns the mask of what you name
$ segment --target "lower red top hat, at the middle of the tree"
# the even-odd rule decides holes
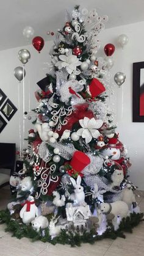
[[[88,158],[85,153],[81,151],[74,152],[70,166],[72,166],[76,172],[81,172],[88,164],[90,164],[90,158]]]

